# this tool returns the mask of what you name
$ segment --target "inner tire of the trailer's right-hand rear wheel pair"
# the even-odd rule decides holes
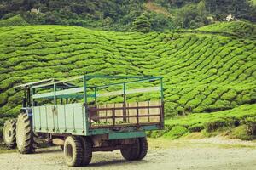
[[[127,161],[136,161],[139,156],[140,143],[139,139],[135,139],[135,143],[129,147],[121,149],[121,154]]]

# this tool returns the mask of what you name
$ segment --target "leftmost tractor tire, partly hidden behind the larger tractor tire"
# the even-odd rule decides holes
[[[9,119],[3,126],[3,141],[9,149],[16,147],[16,119]]]

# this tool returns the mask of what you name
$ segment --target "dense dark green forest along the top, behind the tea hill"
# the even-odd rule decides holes
[[[256,7],[247,0],[3,0],[0,19],[20,14],[31,25],[84,26],[108,31],[129,31],[148,13],[152,31],[198,28],[211,23],[208,16],[224,20],[228,14],[256,21]]]

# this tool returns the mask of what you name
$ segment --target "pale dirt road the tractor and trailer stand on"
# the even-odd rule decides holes
[[[143,161],[125,161],[119,151],[96,152],[89,167],[75,169],[256,169],[256,143],[222,139],[149,140]],[[33,155],[0,154],[0,169],[73,169],[58,147]]]

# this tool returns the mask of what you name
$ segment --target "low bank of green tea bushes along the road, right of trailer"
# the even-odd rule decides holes
[[[232,110],[194,113],[189,116],[179,116],[166,120],[167,130],[165,133],[172,131],[172,127],[175,126],[188,128],[190,133],[200,132],[203,129],[207,133],[214,133],[218,129],[229,128],[231,129],[230,138],[253,139],[253,135],[255,136],[255,118],[256,104],[241,105]],[[159,136],[165,136],[165,133],[159,133]]]

